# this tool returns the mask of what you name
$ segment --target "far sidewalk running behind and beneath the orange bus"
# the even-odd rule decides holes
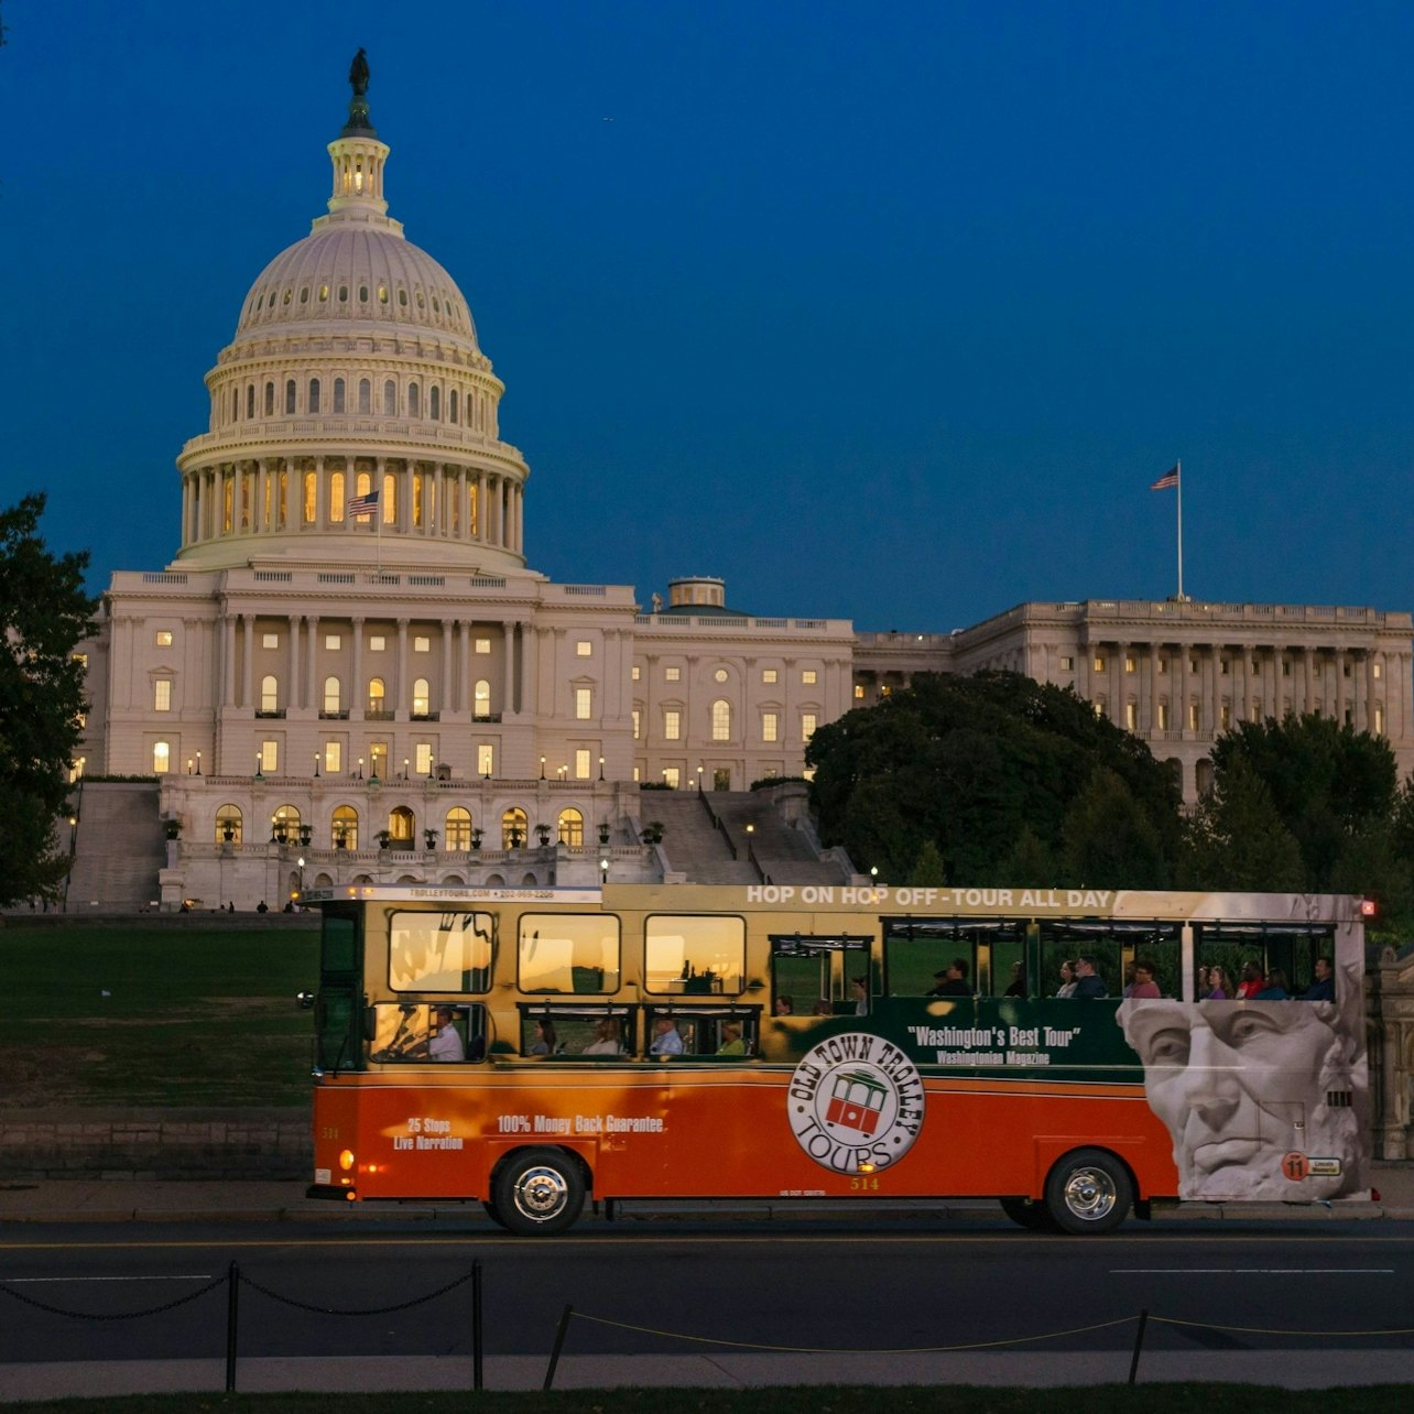
[[[1379,1198],[1370,1202],[1325,1205],[1184,1203],[1155,1208],[1155,1217],[1179,1220],[1298,1220],[1414,1219],[1414,1162],[1376,1161],[1372,1181]],[[703,1202],[639,1200],[617,1205],[619,1222],[731,1217],[732,1220],[800,1220],[803,1217],[967,1217],[1001,1220],[987,1199],[899,1199],[857,1202],[779,1202],[773,1199],[717,1199]],[[0,1223],[71,1222],[311,1222],[311,1220],[440,1220],[484,1225],[499,1232],[479,1202],[339,1203],[304,1196],[294,1181],[177,1182],[147,1179],[41,1179],[0,1184]]]

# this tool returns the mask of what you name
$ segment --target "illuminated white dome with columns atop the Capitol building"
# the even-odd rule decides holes
[[[328,153],[328,214],[262,270],[206,375],[208,431],[177,462],[178,567],[366,561],[376,537],[379,567],[523,568],[505,385],[457,281],[387,215],[362,89]]]

